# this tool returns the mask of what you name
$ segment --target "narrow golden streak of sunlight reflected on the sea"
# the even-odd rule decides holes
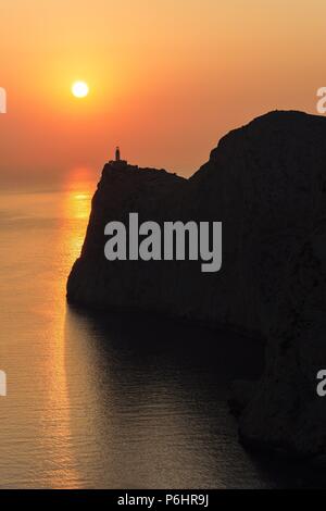
[[[63,297],[70,269],[80,254],[90,213],[93,183],[85,180],[85,172],[87,174],[87,170],[77,169],[68,175],[67,191],[63,196],[62,211],[60,212],[63,225],[57,230],[57,238],[53,239],[54,247],[57,246],[54,253],[60,253],[62,260],[61,278],[53,281],[53,287],[49,289],[54,304],[54,312],[52,311],[51,321],[49,322],[49,337],[52,342],[49,344],[49,363],[45,367],[48,379],[46,387],[49,391],[49,406],[45,410],[45,423],[48,427],[43,437],[46,451],[52,451],[52,459],[58,460],[58,469],[49,472],[48,485],[52,488],[80,487],[80,474],[77,470],[77,460],[74,459],[75,449],[72,441],[72,407],[66,381],[66,304]],[[82,180],[80,174],[82,177],[84,176]],[[73,228],[67,228],[66,223],[72,224]],[[72,352],[70,354],[76,356]],[[83,372],[82,374],[76,373],[76,376],[83,378]],[[80,384],[80,388],[84,388],[83,384]],[[53,443],[54,438],[55,441]]]

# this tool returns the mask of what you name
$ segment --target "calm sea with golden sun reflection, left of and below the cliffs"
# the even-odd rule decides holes
[[[237,441],[229,384],[259,374],[263,357],[248,339],[67,307],[92,191],[0,196],[0,486],[309,484]]]

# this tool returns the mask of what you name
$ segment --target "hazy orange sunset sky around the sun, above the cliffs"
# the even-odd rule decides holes
[[[325,0],[0,0],[1,175],[99,171],[116,144],[189,175],[256,115],[316,113],[325,20]]]

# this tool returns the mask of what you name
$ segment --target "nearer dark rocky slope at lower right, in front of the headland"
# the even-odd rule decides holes
[[[243,407],[240,436],[247,445],[325,465],[326,398],[316,392],[316,375],[326,369],[326,219],[313,224],[290,259],[285,285],[265,374]]]

